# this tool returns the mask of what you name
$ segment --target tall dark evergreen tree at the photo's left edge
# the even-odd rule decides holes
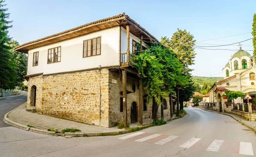
[[[11,38],[8,35],[8,29],[12,28],[12,21],[8,21],[9,13],[4,8],[5,1],[0,0],[0,87],[2,88],[14,88],[16,78],[16,59],[10,51],[10,47],[6,45]]]

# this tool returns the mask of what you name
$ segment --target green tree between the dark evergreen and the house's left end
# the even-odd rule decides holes
[[[14,50],[14,48],[19,45],[16,40],[9,41],[6,45],[9,45],[9,47],[12,48],[12,54],[17,61],[15,86],[22,86],[24,81],[23,76],[25,76],[27,72],[27,56],[25,53],[17,52]]]

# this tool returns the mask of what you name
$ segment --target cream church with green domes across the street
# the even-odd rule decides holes
[[[231,112],[239,110],[248,112],[255,111],[254,98],[256,96],[256,80],[255,80],[255,62],[250,53],[240,48],[222,70],[224,79],[212,85],[209,92],[209,105],[212,109],[219,112]],[[237,98],[233,101],[228,101],[225,96],[227,90],[240,91],[249,93],[252,99],[251,109],[247,107],[247,101],[243,98]]]

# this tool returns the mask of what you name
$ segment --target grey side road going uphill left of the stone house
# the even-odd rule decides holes
[[[19,92],[22,95],[12,96],[5,99],[0,99],[0,128],[10,126],[3,122],[4,115],[15,109],[16,107],[20,106],[24,102],[27,101],[27,93],[26,92]]]

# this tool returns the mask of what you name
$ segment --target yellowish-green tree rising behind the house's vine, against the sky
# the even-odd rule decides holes
[[[186,29],[184,31],[177,28],[177,32],[175,32],[171,39],[168,37],[161,37],[161,43],[171,48],[178,56],[178,58],[184,63],[185,70],[192,71],[189,69],[189,65],[194,64],[195,58],[195,50],[193,46],[195,45],[194,36],[187,32]]]

